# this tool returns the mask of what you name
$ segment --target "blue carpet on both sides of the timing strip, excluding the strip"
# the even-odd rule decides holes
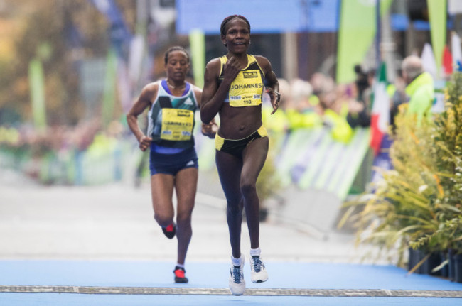
[[[174,263],[159,261],[0,261],[0,285],[227,288],[228,263],[187,263],[188,284],[173,283]],[[269,280],[247,288],[462,290],[461,283],[402,268],[345,263],[267,262]],[[0,305],[462,305],[456,298],[0,293]]]

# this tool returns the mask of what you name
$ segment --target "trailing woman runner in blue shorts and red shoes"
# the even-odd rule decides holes
[[[178,239],[178,256],[173,270],[176,283],[187,283],[185,259],[192,236],[191,214],[198,183],[198,156],[194,148],[194,111],[202,91],[185,81],[189,55],[172,47],[165,54],[167,78],[147,84],[127,114],[129,128],[141,151],[150,148],[151,195],[154,219],[169,239]],[[149,107],[147,136],[139,128],[138,116]],[[213,138],[216,125],[202,125],[204,135]],[[173,221],[173,190],[176,190],[176,222]]]

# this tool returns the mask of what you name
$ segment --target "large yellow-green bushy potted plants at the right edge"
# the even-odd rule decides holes
[[[418,271],[441,252],[462,254],[462,74],[456,72],[446,88],[446,109],[434,121],[417,123],[406,115],[396,117],[390,149],[393,170],[370,192],[348,202],[339,226],[354,219],[358,241],[372,241],[397,252],[402,266],[409,252],[410,272]],[[355,212],[355,207],[364,209]],[[417,251],[419,260],[413,260]],[[458,258],[458,257],[457,257]],[[458,261],[456,262],[456,266]],[[430,271],[446,266],[444,260]],[[461,255],[462,270],[462,255]],[[428,269],[427,269],[428,270]],[[461,271],[462,272],[462,271]],[[462,281],[462,279],[461,279]]]

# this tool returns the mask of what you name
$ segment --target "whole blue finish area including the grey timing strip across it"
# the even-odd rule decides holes
[[[461,305],[462,284],[395,266],[267,261],[269,280],[227,288],[229,263],[190,262],[187,284],[161,261],[0,261],[0,305]]]

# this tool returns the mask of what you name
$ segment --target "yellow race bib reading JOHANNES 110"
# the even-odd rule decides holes
[[[241,71],[230,87],[230,106],[257,106],[262,103],[262,91],[259,70]]]

